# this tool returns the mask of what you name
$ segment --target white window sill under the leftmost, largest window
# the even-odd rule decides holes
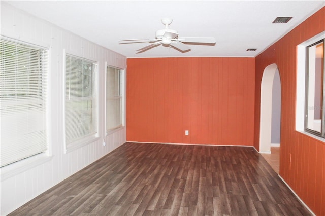
[[[0,178],[1,182],[13,177],[17,174],[20,174],[28,169],[34,168],[46,162],[52,160],[52,155],[47,155],[46,153],[41,153],[38,155],[25,158],[23,160],[17,161],[15,163],[9,164],[7,166],[0,168]]]

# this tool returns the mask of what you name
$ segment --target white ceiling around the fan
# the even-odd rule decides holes
[[[254,57],[325,6],[325,1],[2,1],[126,57]],[[276,17],[294,17],[272,24]],[[172,18],[179,37],[215,37],[214,46],[188,45],[181,53],[121,39],[154,38],[161,18]],[[257,48],[247,52],[248,48]]]

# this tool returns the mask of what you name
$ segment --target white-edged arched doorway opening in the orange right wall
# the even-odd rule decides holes
[[[278,66],[264,69],[261,83],[259,152],[271,153],[271,143],[280,144],[281,83]]]

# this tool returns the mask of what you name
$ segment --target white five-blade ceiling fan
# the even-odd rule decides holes
[[[126,39],[119,40],[119,44],[149,42],[150,45],[137,50],[137,53],[142,53],[153,47],[159,46],[160,44],[163,44],[163,46],[166,47],[175,48],[180,52],[188,52],[190,47],[185,43],[207,45],[215,44],[216,42],[213,37],[178,37],[178,31],[168,28],[168,26],[173,22],[173,19],[165,18],[161,19],[161,22],[165,25],[165,29],[157,30],[154,39]]]

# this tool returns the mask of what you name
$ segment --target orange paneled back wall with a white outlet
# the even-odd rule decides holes
[[[254,58],[127,59],[127,141],[252,146],[254,70]]]

